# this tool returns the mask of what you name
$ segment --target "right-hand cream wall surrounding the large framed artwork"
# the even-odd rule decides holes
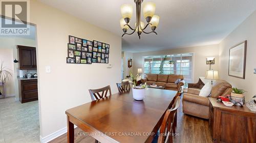
[[[256,68],[256,11],[253,12],[243,23],[241,23],[232,33],[230,33],[220,43],[220,77],[227,80],[233,87],[244,89],[246,101],[253,95],[256,95],[256,74],[253,69]],[[228,56],[229,48],[238,43],[247,40],[246,70],[245,79],[228,76]]]

